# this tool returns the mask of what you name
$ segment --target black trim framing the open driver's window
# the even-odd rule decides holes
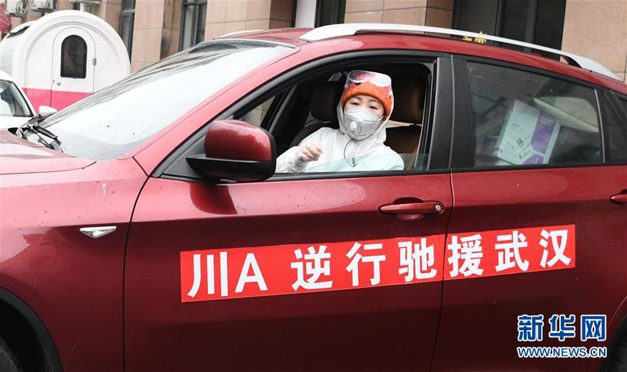
[[[381,52],[384,52],[385,55],[382,55]],[[227,107],[222,112],[218,113],[215,117],[207,120],[206,124],[201,127],[194,134],[191,134],[186,141],[182,142],[179,147],[177,147],[169,156],[167,156],[160,164],[157,166],[152,172],[153,177],[164,178],[164,179],[176,179],[181,181],[194,181],[194,182],[209,182],[204,179],[199,179],[197,175],[192,174],[167,174],[166,172],[171,169],[172,166],[176,163],[176,161],[186,161],[185,157],[187,153],[191,151],[194,147],[194,144],[198,144],[204,137],[206,133],[206,129],[210,122],[218,119],[227,119],[231,117],[236,112],[243,112],[245,110],[252,110],[260,103],[268,100],[269,97],[278,94],[281,90],[285,90],[288,87],[300,83],[300,81],[307,80],[307,77],[310,75],[305,74],[305,72],[311,72],[312,70],[325,70],[332,68],[341,68],[342,65],[351,65],[355,63],[355,60],[359,60],[362,62],[364,59],[368,59],[369,62],[375,62],[377,60],[389,61],[390,58],[407,58],[407,60],[416,61],[420,58],[428,58],[432,61],[437,60],[438,66],[436,67],[435,73],[440,76],[451,77],[451,55],[448,53],[441,52],[431,52],[431,51],[411,51],[411,50],[399,50],[399,49],[373,49],[368,51],[352,51],[347,53],[339,53],[335,55],[330,55],[325,58],[320,58],[317,60],[309,61],[307,63],[303,63],[302,65],[297,65],[295,68],[285,71],[284,73],[275,76],[273,80],[270,82],[263,84],[260,87],[256,87],[250,94],[245,95],[242,100],[235,102],[230,107]],[[396,60],[395,60],[396,62]],[[424,63],[425,61],[423,61]],[[333,64],[331,68],[331,64]],[[359,177],[379,177],[379,176],[411,176],[417,174],[443,174],[448,173],[448,164],[450,164],[450,159],[448,158],[450,154],[450,146],[451,140],[449,138],[452,128],[452,95],[453,95],[453,84],[449,81],[448,87],[443,87],[443,85],[439,85],[439,80],[433,80],[433,86],[431,89],[433,92],[436,90],[436,84],[438,84],[438,88],[440,88],[440,93],[438,93],[438,97],[433,97],[433,105],[431,110],[434,110],[434,113],[441,112],[439,115],[444,115],[444,117],[438,121],[436,124],[436,115],[431,115],[431,127],[433,127],[434,134],[432,138],[438,138],[437,143],[433,141],[431,143],[430,148],[430,159],[428,163],[428,169],[423,171],[359,171],[359,172],[330,172],[330,173],[310,173],[310,174],[294,174],[294,175],[285,175],[285,176],[272,176],[270,179],[267,179],[263,182],[267,181],[296,181],[302,179],[339,179],[339,178],[359,178]],[[446,82],[445,82],[446,83]],[[441,89],[443,87],[443,89]],[[448,105],[448,107],[447,107]],[[436,107],[438,110],[436,110]],[[448,108],[449,110],[446,110]],[[449,113],[447,115],[446,113]],[[441,137],[437,137],[436,134],[443,133],[445,135]],[[448,133],[448,135],[446,135]],[[440,159],[444,157],[446,159]],[[431,159],[438,159],[436,163],[432,163]],[[439,169],[433,169],[434,167],[438,167]]]

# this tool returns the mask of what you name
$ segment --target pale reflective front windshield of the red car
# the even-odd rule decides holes
[[[63,152],[113,159],[192,107],[290,49],[255,41],[211,41],[176,53],[46,119]],[[209,118],[208,118],[209,119]]]

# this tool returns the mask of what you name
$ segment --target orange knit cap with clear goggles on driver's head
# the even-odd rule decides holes
[[[392,93],[392,80],[388,75],[374,73],[372,71],[352,70],[346,79],[342,98],[339,100],[342,107],[350,97],[356,95],[369,95],[374,97],[384,108],[384,116],[389,117],[394,107],[394,94]]]

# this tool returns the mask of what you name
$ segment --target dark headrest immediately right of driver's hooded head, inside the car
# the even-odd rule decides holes
[[[422,124],[424,85],[416,75],[396,75],[392,78],[394,110],[391,120],[411,124]]]

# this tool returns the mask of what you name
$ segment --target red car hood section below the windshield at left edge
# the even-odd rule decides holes
[[[69,171],[94,162],[33,144],[0,130],[0,174]]]

